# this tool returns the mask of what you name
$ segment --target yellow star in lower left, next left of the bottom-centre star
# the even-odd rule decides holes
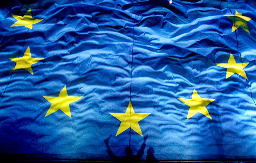
[[[46,117],[49,114],[54,113],[57,110],[63,111],[65,114],[67,114],[69,117],[71,117],[69,104],[73,103],[83,96],[68,96],[67,88],[66,86],[60,91],[59,96],[43,96],[45,99],[47,99],[48,102],[52,103],[49,110],[45,114],[44,117]]]

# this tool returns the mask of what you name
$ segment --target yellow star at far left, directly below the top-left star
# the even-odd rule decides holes
[[[9,58],[9,59],[16,62],[15,67],[10,71],[10,73],[13,72],[14,70],[25,69],[33,75],[31,66],[44,58],[31,57],[30,48],[28,47],[23,57]]]

